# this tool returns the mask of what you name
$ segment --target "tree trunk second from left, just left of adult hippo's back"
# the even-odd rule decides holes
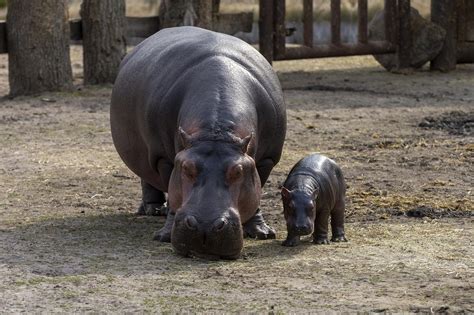
[[[81,6],[84,83],[113,83],[125,55],[125,0],[84,0]]]

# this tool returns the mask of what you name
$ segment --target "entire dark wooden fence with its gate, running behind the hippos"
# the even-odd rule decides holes
[[[370,41],[367,36],[367,0],[358,0],[359,37],[356,44],[341,43],[340,40],[340,4],[341,0],[331,0],[331,43],[313,45],[312,0],[303,1],[303,45],[287,46],[285,43],[285,0],[260,0],[259,37],[260,52],[270,61],[284,59],[320,58],[350,55],[368,55],[397,52],[401,66],[408,66],[410,52],[410,0],[385,0],[386,38],[385,41]],[[455,61],[474,62],[474,0],[432,0],[435,5],[442,1],[456,1],[454,20],[448,30],[448,36],[454,36],[446,49],[451,50]],[[453,16],[440,17],[446,21]],[[213,29],[235,34],[238,31],[250,32],[253,24],[253,12],[221,14],[213,21]],[[71,20],[71,40],[82,39],[81,20]],[[127,43],[135,45],[160,29],[158,16],[127,17]],[[451,35],[450,35],[451,34]],[[454,42],[454,44],[453,44]],[[8,53],[6,23],[0,22],[0,53]]]

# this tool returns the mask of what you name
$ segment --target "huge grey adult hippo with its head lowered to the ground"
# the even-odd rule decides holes
[[[243,233],[275,237],[259,204],[286,111],[277,76],[252,46],[195,27],[163,29],[122,61],[110,117],[120,157],[142,179],[140,211],[168,193],[155,239],[183,255],[235,259]]]

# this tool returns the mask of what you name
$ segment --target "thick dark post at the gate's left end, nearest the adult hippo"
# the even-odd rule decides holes
[[[273,0],[260,0],[259,12],[259,48],[260,53],[273,61]]]

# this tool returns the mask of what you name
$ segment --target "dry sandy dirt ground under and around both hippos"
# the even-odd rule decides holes
[[[138,217],[109,130],[110,87],[0,102],[0,313],[474,312],[474,65],[384,71],[371,57],[275,63],[288,106],[262,211],[277,239],[183,258]],[[0,56],[0,94],[8,93]],[[310,152],[345,173],[348,243],[296,248],[279,185]]]

